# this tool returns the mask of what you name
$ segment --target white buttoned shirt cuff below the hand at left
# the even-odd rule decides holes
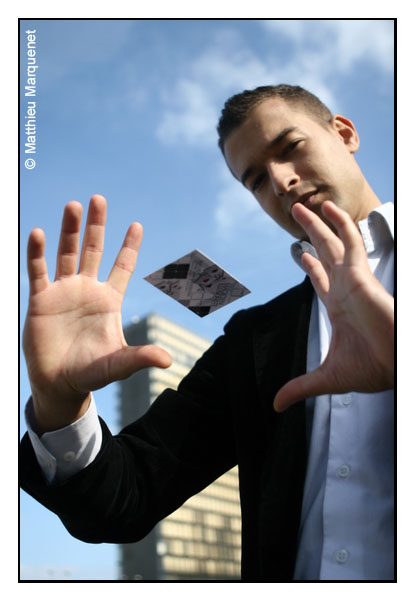
[[[92,395],[91,395],[92,397]],[[25,409],[27,431],[37,461],[49,484],[64,482],[93,462],[102,444],[102,430],[93,397],[78,420],[38,436],[32,398]]]

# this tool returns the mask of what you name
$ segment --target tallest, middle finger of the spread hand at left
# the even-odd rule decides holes
[[[79,273],[96,277],[104,250],[105,221],[107,202],[103,196],[95,194],[90,202],[82,243]]]

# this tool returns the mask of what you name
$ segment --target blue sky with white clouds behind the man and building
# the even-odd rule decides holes
[[[30,230],[46,233],[53,278],[63,207],[76,199],[86,209],[94,193],[108,200],[101,279],[129,223],[144,226],[125,324],[156,311],[213,340],[235,311],[303,278],[290,258],[292,238],[233,179],[217,148],[222,105],[244,88],[300,84],[352,119],[363,172],[382,202],[394,200],[392,21],[28,20],[23,82],[26,29],[36,29],[39,69],[36,167],[25,169],[23,152],[21,159],[22,325]],[[26,101],[21,92],[23,120]],[[22,131],[21,149],[24,141]],[[200,319],[143,280],[194,248],[252,293]],[[22,406],[29,394],[22,363]],[[95,396],[117,432],[117,386]],[[117,577],[115,546],[73,539],[25,493],[20,528],[22,578]]]

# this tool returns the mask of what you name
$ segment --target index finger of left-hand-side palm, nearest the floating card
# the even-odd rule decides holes
[[[128,228],[121,250],[108,276],[108,283],[122,295],[124,295],[130,277],[135,269],[142,238],[142,226],[139,223],[132,223]]]

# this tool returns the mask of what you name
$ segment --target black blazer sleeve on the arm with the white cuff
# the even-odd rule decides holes
[[[183,379],[139,420],[103,442],[95,460],[62,484],[48,485],[26,434],[22,488],[85,542],[134,542],[236,462],[227,362],[221,336]]]

